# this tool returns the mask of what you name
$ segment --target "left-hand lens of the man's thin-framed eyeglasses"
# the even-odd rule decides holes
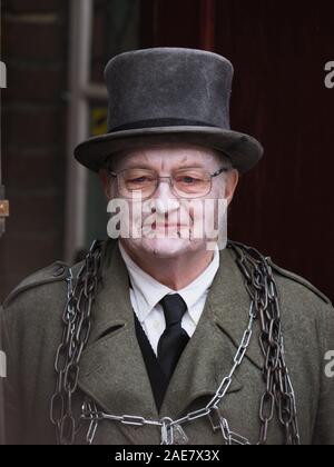
[[[121,173],[121,195],[132,197],[141,193],[143,198],[149,197],[156,189],[157,175],[145,169],[128,169]]]

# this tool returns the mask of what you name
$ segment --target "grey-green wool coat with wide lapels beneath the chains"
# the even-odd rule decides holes
[[[233,366],[248,322],[249,296],[234,252],[220,251],[220,267],[195,335],[183,352],[160,413],[135,332],[128,274],[118,244],[107,242],[102,281],[94,306],[92,330],[80,361],[81,391],[111,415],[176,419],[205,407]],[[75,267],[78,270],[79,266]],[[282,307],[286,362],[296,394],[302,444],[334,445],[334,378],[326,375],[334,350],[334,310],[330,300],[304,279],[273,265]],[[56,387],[55,356],[61,340],[67,300],[66,265],[55,265],[26,279],[1,310],[1,347],[8,358],[4,384],[4,428],[8,444],[53,444],[50,398]],[[259,325],[243,365],[220,405],[233,431],[256,444],[259,401],[265,390]],[[87,427],[77,443],[85,441]],[[191,445],[220,445],[207,418],[185,427]],[[282,445],[274,419],[268,444]],[[158,427],[129,427],[102,421],[96,444],[157,445]]]

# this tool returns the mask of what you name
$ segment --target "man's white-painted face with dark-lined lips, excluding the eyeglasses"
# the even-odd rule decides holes
[[[170,177],[178,169],[195,167],[213,175],[225,166],[222,160],[222,156],[210,149],[190,145],[164,145],[127,151],[115,159],[112,170],[119,173],[126,169],[146,168],[154,170],[159,177]],[[109,200],[124,197],[124,193],[120,193],[118,190],[119,186],[115,178],[110,178],[110,175],[105,170],[101,171],[100,176]],[[226,203],[229,205],[237,181],[238,173],[236,170],[229,170],[213,178],[212,190],[202,196],[200,199],[197,198],[195,199],[195,206],[197,203],[197,206],[204,207],[205,202],[207,202],[205,200],[219,199],[226,200]],[[217,219],[217,206],[216,208],[206,209],[204,219],[203,209],[186,209],[189,205],[187,201],[186,203],[183,202],[181,197],[173,190],[168,179],[160,180],[157,190],[150,197],[150,201],[154,209],[149,210],[149,212],[147,209],[145,212],[140,211],[140,218],[138,217],[138,219],[134,220],[137,227],[138,222],[141,223],[139,226],[141,228],[145,225],[146,228],[148,225],[153,226],[153,229],[149,229],[150,234],[156,235],[143,235],[141,238],[124,238],[122,242],[130,250],[135,250],[137,254],[154,254],[159,258],[173,258],[187,251],[206,248],[208,238],[205,232],[202,238],[198,238],[198,236],[194,238],[195,226],[198,226],[198,222],[209,223]],[[135,211],[138,215],[138,206],[137,209],[134,209],[138,201],[129,200],[128,202],[131,216]],[[145,202],[141,206],[145,206]],[[212,202],[210,205],[207,203],[207,206],[213,207],[214,205]],[[157,225],[147,222],[149,219],[153,219],[154,212],[159,216]],[[214,239],[209,238],[209,240]]]

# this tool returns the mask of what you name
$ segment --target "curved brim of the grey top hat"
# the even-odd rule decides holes
[[[158,127],[110,132],[81,142],[75,149],[75,157],[82,166],[98,172],[115,152],[166,142],[185,142],[222,151],[242,173],[249,171],[263,157],[263,147],[255,138],[212,127]]]

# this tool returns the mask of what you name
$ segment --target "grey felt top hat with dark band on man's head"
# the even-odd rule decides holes
[[[121,53],[106,68],[108,132],[80,143],[75,156],[98,171],[112,153],[161,142],[217,149],[240,172],[263,156],[261,143],[232,131],[233,66],[216,53],[156,48]]]

